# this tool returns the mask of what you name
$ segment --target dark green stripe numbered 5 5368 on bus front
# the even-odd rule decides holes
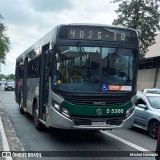
[[[97,109],[102,110],[101,116],[124,116],[128,108],[132,107],[132,103],[128,102],[124,105],[112,105],[112,106],[87,106],[87,105],[75,105],[67,101],[63,101],[62,107],[69,110],[70,114],[77,116],[98,116],[96,114]],[[122,113],[123,111],[123,113]],[[109,113],[107,113],[109,112]],[[115,113],[118,112],[118,113]]]

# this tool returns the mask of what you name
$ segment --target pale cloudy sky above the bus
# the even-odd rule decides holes
[[[11,45],[1,74],[14,74],[16,58],[59,24],[111,25],[118,4],[110,0],[0,0],[1,22]]]

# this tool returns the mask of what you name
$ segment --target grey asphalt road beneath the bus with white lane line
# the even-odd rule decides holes
[[[54,153],[61,154],[61,156],[58,157],[52,155],[53,157],[40,159],[154,159],[153,157],[136,156],[136,153],[142,153],[142,150],[154,151],[156,147],[156,140],[150,138],[145,131],[140,129],[133,128],[98,132],[46,129],[43,132],[39,132],[35,129],[33,119],[30,115],[22,115],[19,113],[13,91],[4,91],[3,87],[0,86],[0,101],[25,151],[49,151],[45,152],[48,156]],[[65,152],[63,151],[70,151],[69,153],[67,152],[67,154],[73,157],[63,157],[65,156]],[[81,157],[81,155],[77,155],[77,157],[75,157],[73,154],[79,153],[77,151],[82,151],[81,155],[88,154],[91,151],[92,154],[100,156]],[[83,153],[83,151],[85,153]],[[134,155],[132,153],[134,153]],[[102,157],[103,154],[104,157]],[[110,157],[106,156],[106,154]],[[124,157],[124,155],[128,156]]]

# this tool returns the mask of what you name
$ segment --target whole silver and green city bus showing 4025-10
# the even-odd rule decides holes
[[[35,127],[130,128],[138,35],[100,24],[61,24],[16,59],[15,100]]]

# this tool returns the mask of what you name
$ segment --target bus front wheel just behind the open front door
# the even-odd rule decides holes
[[[38,103],[36,103],[35,107],[34,107],[33,119],[34,119],[34,125],[35,125],[36,129],[39,130],[39,131],[43,130],[44,126],[39,121],[39,107],[38,107]]]

